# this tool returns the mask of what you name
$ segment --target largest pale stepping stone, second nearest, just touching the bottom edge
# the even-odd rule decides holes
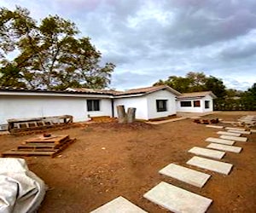
[[[172,212],[203,213],[212,203],[212,199],[190,193],[163,181],[145,193],[143,197]]]

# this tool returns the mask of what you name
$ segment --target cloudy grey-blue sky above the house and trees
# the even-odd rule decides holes
[[[228,88],[256,83],[255,0],[1,0],[34,19],[58,14],[116,65],[111,88],[131,89],[187,72]]]

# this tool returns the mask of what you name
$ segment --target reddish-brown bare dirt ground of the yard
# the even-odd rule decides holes
[[[235,121],[247,114],[256,112],[218,112],[204,118]],[[51,131],[77,141],[55,158],[26,157],[30,170],[49,186],[38,212],[90,212],[118,196],[148,212],[168,212],[143,199],[160,181],[212,199],[207,212],[256,212],[256,133],[248,135],[248,142],[236,142],[243,148],[241,153],[226,153],[222,159],[234,164],[229,176],[201,170],[212,175],[205,187],[158,174],[171,163],[200,170],[186,164],[194,156],[187,151],[207,147],[205,139],[217,137],[217,131],[191,119],[160,125],[90,124]],[[1,135],[0,153],[32,136]]]

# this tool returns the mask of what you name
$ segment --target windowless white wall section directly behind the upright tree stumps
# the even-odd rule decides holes
[[[124,105],[126,112],[129,107],[136,108],[136,118],[148,120],[148,101],[146,96],[114,99],[114,117],[117,117],[116,107],[119,105]]]

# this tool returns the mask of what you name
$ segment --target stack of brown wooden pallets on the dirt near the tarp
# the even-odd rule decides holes
[[[35,139],[35,141],[32,141]],[[42,137],[35,137],[24,141],[20,146],[2,153],[2,157],[17,156],[50,156],[54,158],[62,150],[66,149],[76,139],[70,139],[69,135],[55,135],[51,139],[43,141]]]

